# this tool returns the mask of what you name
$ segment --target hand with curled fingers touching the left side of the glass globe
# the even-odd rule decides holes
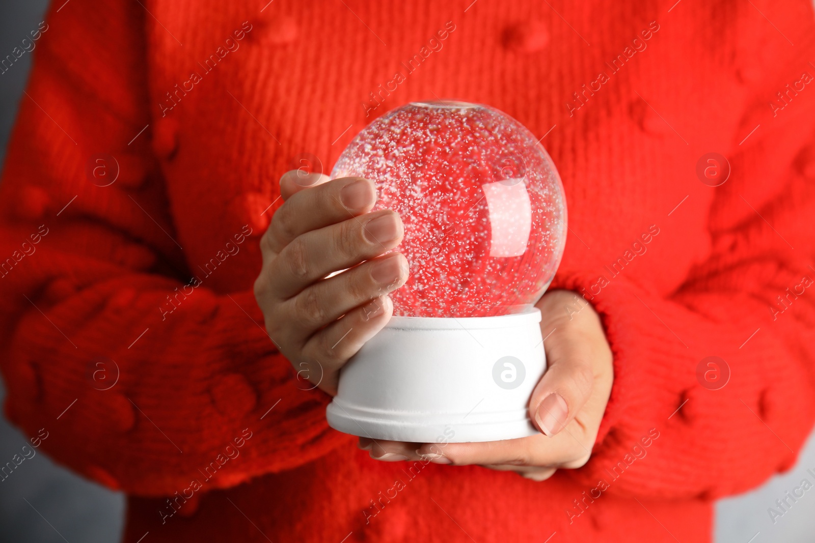
[[[360,177],[292,170],[280,195],[260,242],[255,298],[297,375],[333,396],[340,368],[390,320],[388,293],[407,281],[407,259],[383,255],[401,243],[402,221],[390,209],[371,212],[377,191]]]

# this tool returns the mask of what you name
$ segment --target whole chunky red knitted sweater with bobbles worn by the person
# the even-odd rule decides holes
[[[6,410],[130,495],[126,541],[708,541],[713,498],[795,462],[815,418],[808,0],[62,3],[0,186]],[[615,354],[593,458],[544,483],[372,461],[253,298],[293,159],[328,171],[372,118],[436,97],[543,138],[569,205],[553,287]]]

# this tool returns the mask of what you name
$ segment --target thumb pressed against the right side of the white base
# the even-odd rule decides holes
[[[574,337],[573,337],[574,336]],[[571,423],[591,396],[594,374],[585,338],[564,330],[544,345],[548,369],[529,402],[529,416],[549,437]]]

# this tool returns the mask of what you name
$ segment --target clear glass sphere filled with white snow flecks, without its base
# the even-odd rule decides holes
[[[376,182],[404,223],[410,278],[394,315],[490,317],[540,298],[566,243],[566,201],[537,138],[492,107],[409,103],[368,125],[331,173]]]

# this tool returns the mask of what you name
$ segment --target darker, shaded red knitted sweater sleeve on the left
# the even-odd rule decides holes
[[[57,461],[143,495],[324,455],[347,438],[325,423],[327,396],[276,353],[252,286],[189,286],[150,151],[148,15],[139,2],[60,3],[0,186],[9,418]]]

